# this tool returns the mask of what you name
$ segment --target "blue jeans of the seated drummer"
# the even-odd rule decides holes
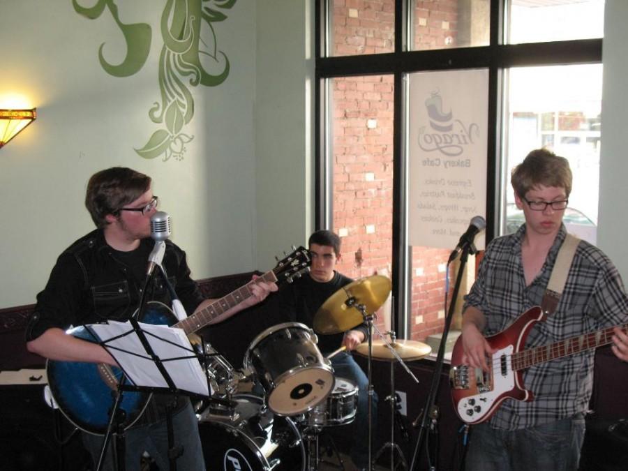
[[[353,443],[350,456],[358,468],[368,465],[368,378],[362,368],[347,352],[341,352],[331,357],[331,366],[336,377],[344,377],[357,384],[358,403],[355,420],[353,421]],[[373,439],[377,430],[377,394],[373,390]],[[373,440],[375,443],[375,440]]]

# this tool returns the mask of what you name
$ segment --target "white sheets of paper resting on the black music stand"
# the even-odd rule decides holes
[[[207,377],[198,359],[191,357],[192,346],[183,329],[142,322],[139,324],[174,385],[182,391],[209,396]],[[168,387],[155,362],[148,356],[140,338],[133,331],[130,322],[110,320],[107,324],[89,324],[86,327],[105,342],[107,351],[116,359],[135,386]],[[130,334],[107,340],[127,332]],[[181,359],[180,357],[190,358]],[[173,358],[177,359],[173,360]]]

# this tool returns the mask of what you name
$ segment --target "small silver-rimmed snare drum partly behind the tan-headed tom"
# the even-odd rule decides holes
[[[327,402],[308,412],[304,424],[321,427],[350,424],[357,412],[358,390],[351,381],[336,377],[334,391],[327,397]]]

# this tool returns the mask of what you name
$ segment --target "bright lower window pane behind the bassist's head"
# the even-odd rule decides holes
[[[507,152],[504,233],[523,223],[507,184],[510,170],[537,147],[569,159],[574,192],[565,212],[567,230],[595,244],[601,135],[601,65],[511,68],[507,71]]]

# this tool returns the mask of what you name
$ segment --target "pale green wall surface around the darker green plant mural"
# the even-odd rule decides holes
[[[214,23],[230,75],[218,87],[190,87],[195,115],[186,132],[195,137],[183,160],[167,161],[133,151],[156,129],[148,112],[160,98],[166,2],[116,3],[121,21],[152,27],[147,63],[124,78],[98,63],[102,43],[112,63],[126,51],[108,10],[88,20],[70,1],[0,0],[0,42],[8,45],[0,100],[21,94],[38,109],[35,123],[0,149],[0,308],[34,302],[57,255],[92,229],[85,185],[112,165],[154,178],[160,208],[172,216],[172,239],[188,252],[196,278],[270,269],[271,255],[302,243],[307,232],[311,2],[275,0],[257,9],[238,0],[225,22]]]

